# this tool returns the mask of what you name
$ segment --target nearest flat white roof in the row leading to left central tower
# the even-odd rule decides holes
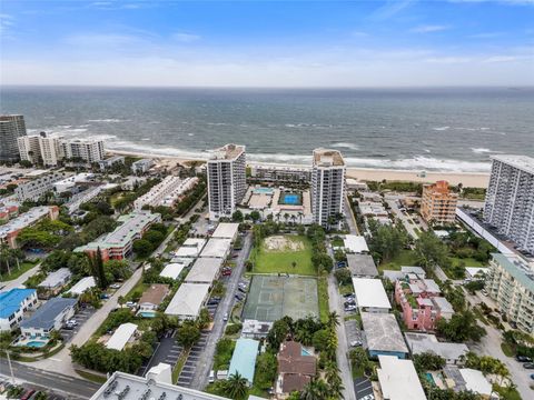
[[[181,283],[165,313],[185,318],[198,317],[208,291],[207,283]]]

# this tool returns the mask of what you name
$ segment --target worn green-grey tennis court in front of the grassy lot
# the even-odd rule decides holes
[[[273,322],[284,316],[293,319],[319,316],[317,280],[315,278],[254,276],[243,310],[243,319]]]

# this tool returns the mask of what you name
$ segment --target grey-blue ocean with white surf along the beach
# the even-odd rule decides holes
[[[348,166],[485,172],[534,157],[534,88],[136,89],[3,87],[2,113],[28,131],[107,138],[115,150],[207,157],[228,142],[255,161],[308,164],[334,148]]]

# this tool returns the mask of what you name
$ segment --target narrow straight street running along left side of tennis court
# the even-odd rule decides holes
[[[214,316],[214,327],[208,336],[204,352],[199,356],[196,373],[190,384],[192,389],[202,390],[208,384],[209,371],[211,370],[211,366],[214,363],[215,347],[217,341],[221,338],[226,327],[226,322],[222,321],[222,317],[226,312],[231,314],[231,309],[235,301],[234,296],[237,291],[239,279],[241,278],[243,270],[245,268],[245,261],[248,259],[248,254],[250,253],[253,246],[253,236],[250,232],[248,232],[243,239],[243,249],[239,252],[239,257],[235,259],[236,267],[234,268],[230,279],[226,286],[225,297],[220,301],[217,312]]]

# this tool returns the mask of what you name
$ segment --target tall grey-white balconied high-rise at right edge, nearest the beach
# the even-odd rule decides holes
[[[484,220],[534,253],[534,158],[493,156]]]

